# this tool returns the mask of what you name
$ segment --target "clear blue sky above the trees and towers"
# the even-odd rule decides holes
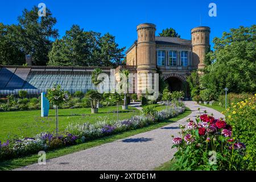
[[[1,0],[0,22],[16,23],[24,8],[31,9],[40,2],[45,3],[57,18],[60,37],[72,24],[79,24],[86,31],[110,32],[119,46],[126,48],[137,39],[136,26],[144,22],[156,24],[156,35],[172,27],[181,38],[191,39],[191,28],[200,26],[201,16],[201,26],[209,26],[212,30],[211,41],[230,28],[256,24],[255,0]],[[211,2],[217,5],[217,17],[208,15]]]

